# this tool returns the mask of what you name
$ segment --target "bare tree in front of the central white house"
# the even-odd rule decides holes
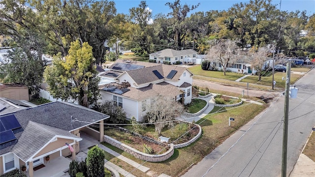
[[[155,123],[158,136],[161,135],[161,130],[167,125],[174,126],[176,117],[184,112],[184,106],[173,98],[159,96],[158,99],[147,106],[147,118],[150,123]]]

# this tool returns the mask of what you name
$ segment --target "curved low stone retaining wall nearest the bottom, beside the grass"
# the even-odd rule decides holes
[[[127,153],[135,156],[138,159],[146,160],[148,162],[161,162],[161,161],[167,160],[168,158],[170,158],[174,154],[174,145],[173,144],[170,145],[170,148],[167,152],[162,153],[162,154],[158,154],[158,155],[152,155],[152,154],[140,152],[139,150],[131,148],[131,147],[107,136],[107,135],[104,135],[104,142],[109,143],[110,145],[112,145],[116,148],[120,148],[120,149],[126,151]]]

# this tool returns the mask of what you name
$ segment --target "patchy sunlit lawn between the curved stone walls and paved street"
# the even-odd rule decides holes
[[[233,108],[215,107],[215,110],[220,110],[222,112],[209,114],[198,121],[203,129],[203,134],[198,139],[198,141],[196,141],[189,147],[175,149],[174,155],[163,162],[144,163],[144,161],[139,160],[120,149],[112,147],[108,144],[104,145],[121,153],[127,158],[136,161],[137,163],[144,163],[143,165],[150,168],[150,171],[153,173],[155,172],[157,176],[164,173],[172,177],[178,177],[180,175],[183,175],[190,165],[202,160],[203,157],[208,155],[214,148],[219,146],[226,138],[229,137],[229,135],[236,131],[240,126],[254,118],[263,109],[265,109],[265,106],[248,103],[243,103],[241,106]],[[228,117],[235,118],[235,121],[231,124],[230,127],[228,126]],[[154,128],[151,128],[151,131],[154,131]],[[172,131],[175,130],[169,130],[169,132]],[[162,134],[163,133],[165,133],[166,135],[166,131],[162,131]],[[133,170],[132,168],[130,169],[128,165],[125,167],[125,165],[123,165],[121,161],[118,163],[116,158],[112,158],[110,159],[110,161],[118,164],[119,166],[121,165],[128,172]],[[147,176],[145,173],[139,172],[138,170],[133,171],[132,174],[138,177]]]

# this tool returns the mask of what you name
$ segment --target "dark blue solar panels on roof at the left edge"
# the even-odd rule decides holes
[[[14,115],[0,118],[0,144],[15,140],[16,137],[12,130],[20,128],[21,124]]]

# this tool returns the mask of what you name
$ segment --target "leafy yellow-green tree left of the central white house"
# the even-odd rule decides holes
[[[63,59],[61,54],[48,66],[44,78],[48,90],[55,98],[78,101],[79,105],[88,107],[98,100],[99,78],[96,76],[92,47],[80,41],[71,42],[68,55]]]

